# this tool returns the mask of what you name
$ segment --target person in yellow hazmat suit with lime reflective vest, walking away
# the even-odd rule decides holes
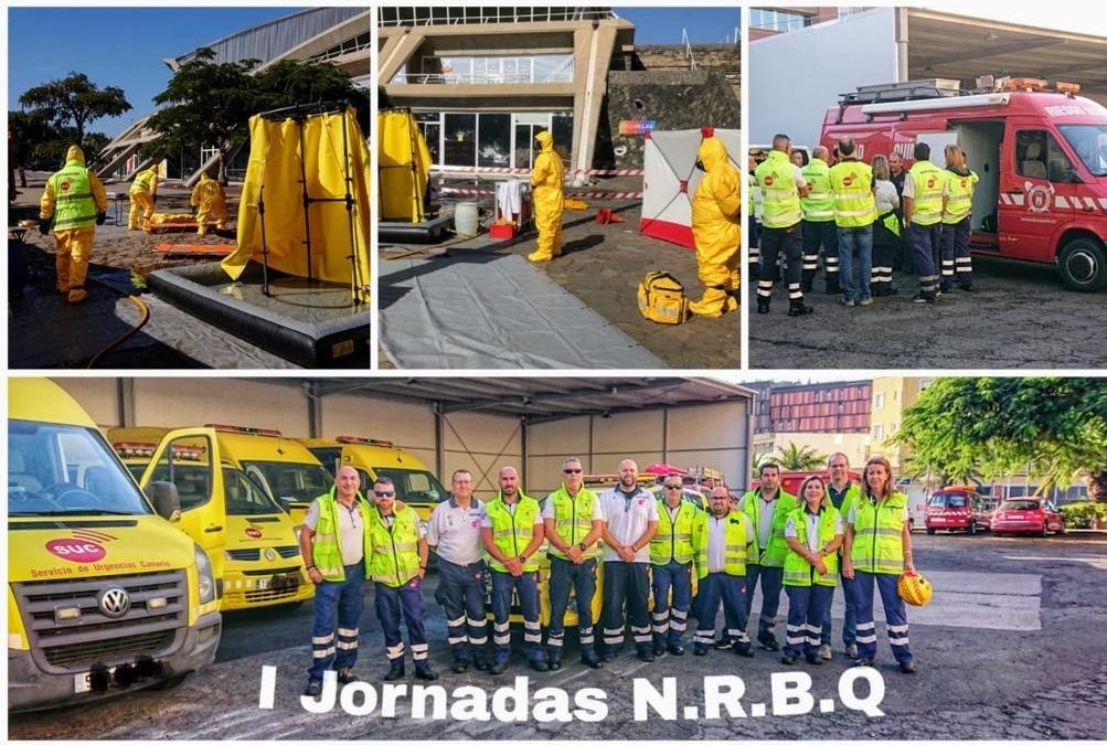
[[[84,165],[84,152],[71,145],[65,165],[46,180],[39,205],[39,232],[54,230],[58,291],[76,303],[89,297],[84,279],[96,226],[107,219],[107,193]]]

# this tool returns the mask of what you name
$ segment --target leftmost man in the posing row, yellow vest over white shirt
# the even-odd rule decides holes
[[[350,466],[334,475],[334,486],[315,497],[300,530],[300,555],[315,583],[315,621],[311,631],[311,668],[306,696],[323,692],[323,672],[333,665],[343,685],[358,680],[358,629],[365,602],[372,555],[370,506],[361,498],[361,478]],[[335,633],[338,641],[335,641]]]

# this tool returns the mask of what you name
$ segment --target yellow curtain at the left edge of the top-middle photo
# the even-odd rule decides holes
[[[382,220],[422,223],[431,178],[431,151],[410,110],[376,115],[377,176]]]

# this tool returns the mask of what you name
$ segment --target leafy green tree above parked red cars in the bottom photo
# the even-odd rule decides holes
[[[987,478],[1030,468],[1042,489],[1107,466],[1107,380],[946,377],[922,392],[892,441],[911,470]]]

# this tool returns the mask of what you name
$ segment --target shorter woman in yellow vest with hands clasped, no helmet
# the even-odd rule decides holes
[[[821,476],[808,476],[799,487],[800,506],[788,514],[784,538],[790,551],[784,559],[784,589],[788,593],[786,665],[803,654],[823,664],[823,621],[838,586],[841,515],[827,495]]]

